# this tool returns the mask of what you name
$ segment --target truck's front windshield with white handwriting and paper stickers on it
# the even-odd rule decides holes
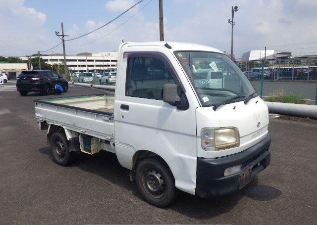
[[[222,54],[204,51],[177,51],[175,55],[190,78],[203,106],[234,99],[242,101],[255,92],[249,80]]]

